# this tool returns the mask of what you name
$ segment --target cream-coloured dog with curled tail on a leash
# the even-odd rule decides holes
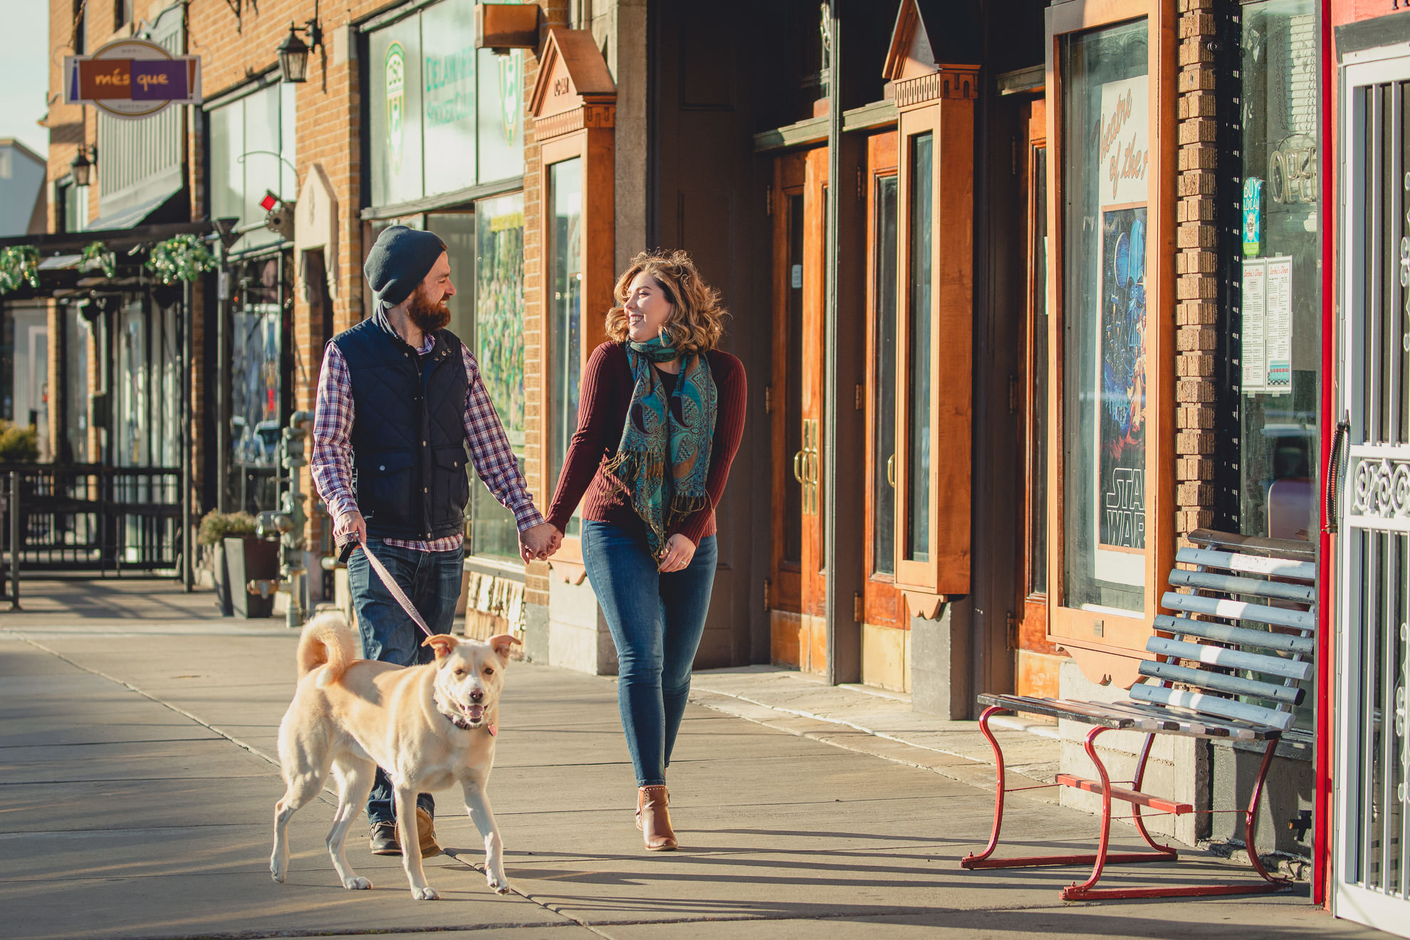
[[[329,830],[333,867],[350,889],[371,888],[343,851],[348,826],[362,812],[376,767],[392,781],[402,865],[417,901],[440,895],[426,884],[416,834],[416,793],[460,781],[465,809],[485,840],[485,878],[509,891],[503,843],[485,784],[495,762],[495,723],[509,650],[503,634],[479,640],[427,637],[436,662],[399,667],[355,660],[352,633],[341,613],[309,621],[299,638],[299,689],[279,723],[279,762],[289,785],[274,810],[269,872],[278,882],[289,871],[289,817],[319,795],[329,771],[338,784],[338,809]]]

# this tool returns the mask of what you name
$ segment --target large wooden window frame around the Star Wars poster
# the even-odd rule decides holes
[[[1160,609],[1158,585],[1175,561],[1175,175],[1176,175],[1176,3],[1175,0],[1067,0],[1046,11],[1048,106],[1048,637],[1097,681],[1129,688],[1139,660],[1151,658],[1145,641]],[[1146,18],[1149,42],[1151,189],[1146,240],[1146,558],[1145,610],[1131,616],[1065,606],[1063,578],[1063,76],[1060,41],[1074,32]],[[1169,104],[1166,104],[1169,101]]]

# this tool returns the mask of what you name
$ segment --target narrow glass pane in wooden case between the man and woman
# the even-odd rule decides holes
[[[548,169],[548,256],[553,259],[548,299],[553,371],[550,395],[553,417],[548,434],[546,488],[553,489],[578,427],[578,385],[582,362],[582,158],[554,163]],[[568,523],[567,536],[581,530],[578,517]]]

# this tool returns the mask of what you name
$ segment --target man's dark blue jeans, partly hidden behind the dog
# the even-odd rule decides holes
[[[368,660],[413,665],[430,662],[436,654],[423,647],[422,629],[417,627],[382,579],[372,571],[364,550],[355,550],[348,557],[348,588],[352,592],[352,607],[357,610],[357,626],[362,633],[362,655]],[[460,585],[465,569],[465,551],[415,551],[386,545],[381,538],[368,538],[367,551],[386,565],[398,586],[416,605],[431,633],[450,633],[455,621],[455,602],[460,599]],[[427,813],[436,813],[436,800],[430,793],[417,793],[416,805]],[[376,768],[372,793],[367,798],[367,819],[369,823],[393,822],[392,784],[382,768]]]

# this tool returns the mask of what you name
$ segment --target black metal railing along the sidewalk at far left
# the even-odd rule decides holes
[[[0,464],[0,492],[11,603],[20,571],[180,575],[176,468]]]

